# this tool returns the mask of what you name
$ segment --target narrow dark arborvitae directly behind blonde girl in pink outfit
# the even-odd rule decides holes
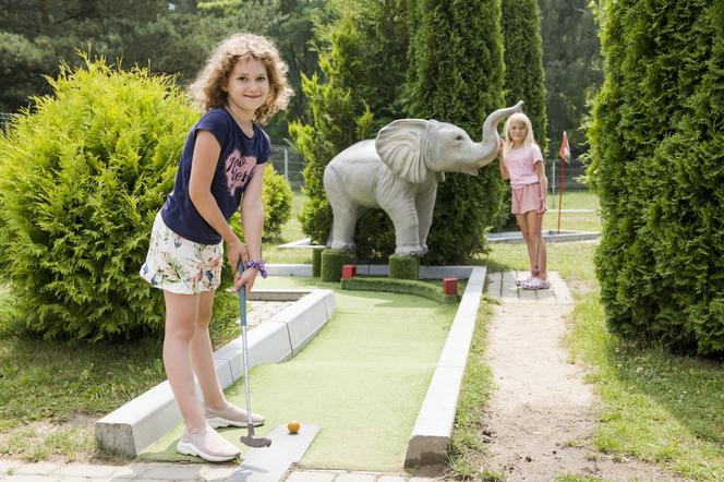
[[[541,40],[541,10],[538,0],[503,0],[503,40],[505,45],[505,99],[512,106],[524,100],[523,111],[533,124],[535,142],[545,156],[548,146],[548,121],[545,108],[543,75],[543,45]],[[496,226],[515,226],[516,219],[507,209],[510,189],[506,183],[504,209]]]

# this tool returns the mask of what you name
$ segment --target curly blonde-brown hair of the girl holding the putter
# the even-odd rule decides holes
[[[269,96],[254,112],[254,121],[264,124],[276,112],[287,108],[293,92],[287,84],[288,68],[277,48],[265,37],[236,34],[216,46],[189,87],[192,98],[204,111],[227,104],[227,93],[221,87],[236,64],[248,58],[261,61],[269,80]]]

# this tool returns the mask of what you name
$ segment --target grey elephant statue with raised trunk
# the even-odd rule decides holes
[[[324,189],[333,212],[327,248],[354,250],[354,227],[367,208],[383,208],[395,225],[395,253],[422,257],[433,220],[437,183],[444,172],[478,174],[498,154],[498,123],[522,110],[522,101],[492,112],[483,138],[473,142],[457,125],[400,119],[329,161]]]

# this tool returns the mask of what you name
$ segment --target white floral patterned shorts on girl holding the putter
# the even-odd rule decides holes
[[[197,294],[221,284],[224,243],[200,244],[171,231],[156,215],[141,277],[154,288],[172,293]]]

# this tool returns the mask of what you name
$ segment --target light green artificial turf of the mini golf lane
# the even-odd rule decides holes
[[[275,277],[257,288],[313,285],[309,279]],[[256,434],[263,436],[292,419],[314,423],[322,430],[303,467],[401,469],[457,304],[389,292],[336,290],[335,297],[335,315],[301,353],[251,371],[252,407],[266,417]],[[244,407],[243,382],[229,387],[227,397]],[[141,458],[198,461],[176,453],[181,431],[177,426]],[[220,432],[245,450],[239,443],[245,429]]]

